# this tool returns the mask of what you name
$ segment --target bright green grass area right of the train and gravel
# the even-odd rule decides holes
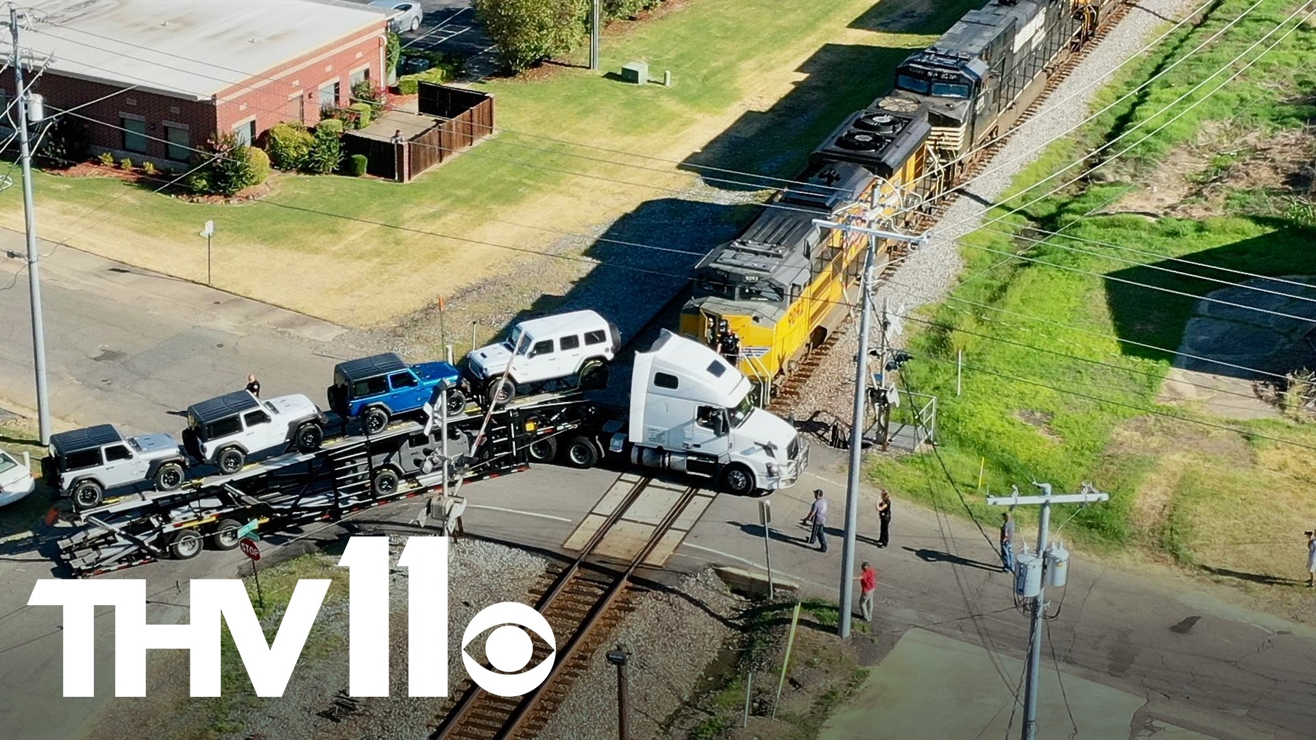
[[[1167,41],[1161,53],[1148,55],[1121,75],[1101,92],[1099,105],[1149,79],[1165,67],[1167,55],[1192,49],[1246,5],[1234,0],[1217,5],[1200,28],[1180,33]],[[1050,146],[1016,179],[1015,192],[1137,121],[1152,121],[1142,130],[1158,125],[1169,117],[1158,113],[1161,108],[1274,28],[1292,7],[1292,3],[1278,0],[1263,4],[1255,17],[1154,82],[1146,93],[1111,111],[1075,140]],[[1184,257],[1262,275],[1316,274],[1316,250],[1311,249],[1316,233],[1283,219],[1240,211],[1225,211],[1204,220],[1087,215],[1117,201],[1130,183],[1153,171],[1177,146],[1192,141],[1208,122],[1233,119],[1233,125],[1273,132],[1292,128],[1316,115],[1305,97],[1316,86],[1316,70],[1302,62],[1313,42],[1316,32],[1304,26],[1217,96],[1140,145],[1132,153],[1136,157],[1112,163],[1123,182],[1074,186],[992,226],[1005,234],[980,230],[966,237],[965,274],[983,274],[961,284],[944,305],[924,313],[923,320],[934,325],[912,324],[917,332],[908,345],[916,359],[905,371],[913,390],[940,398],[937,428],[949,475],[936,458],[921,456],[879,461],[870,471],[873,477],[908,496],[962,512],[958,489],[976,516],[988,517],[988,527],[999,520],[999,511],[988,511],[980,503],[987,489],[1000,494],[1007,492],[1011,483],[1028,489],[1030,481],[1049,481],[1057,489],[1071,491],[1082,481],[1092,481],[1109,491],[1112,500],[1054,515],[1059,521],[1073,515],[1067,537],[1109,548],[1145,544],[1154,552],[1203,568],[1277,568],[1267,562],[1274,558],[1252,542],[1295,529],[1294,521],[1299,517],[1316,516],[1316,507],[1305,492],[1312,481],[1307,470],[1316,457],[1311,450],[1252,435],[1309,445],[1316,442],[1316,433],[1309,427],[1282,420],[1230,421],[1188,407],[1158,406],[1155,398],[1170,356],[1121,344],[1115,337],[1177,349],[1196,302],[1190,296],[1223,287],[1129,265],[1126,259],[1157,263],[1167,257]],[[1066,179],[1073,175],[1070,172]],[[1045,187],[1049,190],[1055,182],[1063,180],[1053,180]],[[1003,204],[1026,203],[1041,192],[1046,191],[1005,199]],[[1004,212],[1004,208],[995,211],[996,215]],[[1033,245],[1011,236],[1025,226],[1063,229],[1066,234],[1134,246],[1157,257],[1061,237]],[[1054,266],[1011,261],[990,270],[1001,255],[983,248],[1024,253]],[[1205,271],[1173,266],[1190,273]],[[1096,275],[1157,284],[1190,296]],[[1221,277],[1220,273],[1212,275]],[[1228,274],[1224,278],[1240,279]],[[965,371],[963,395],[957,398],[958,350],[963,352]],[[1248,433],[1163,419],[1153,412],[1228,424]],[[978,489],[980,469],[982,491]],[[1265,490],[1266,495],[1250,495],[1258,490]],[[1240,500],[1248,502],[1248,542],[1241,541],[1244,535],[1233,527],[1240,511],[1229,508]],[[1032,515],[1023,514],[1025,517]]]

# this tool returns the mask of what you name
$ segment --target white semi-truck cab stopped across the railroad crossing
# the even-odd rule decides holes
[[[808,442],[757,408],[751,390],[716,352],[665,329],[636,353],[628,428],[601,441],[636,465],[705,477],[733,494],[790,487],[808,462]]]

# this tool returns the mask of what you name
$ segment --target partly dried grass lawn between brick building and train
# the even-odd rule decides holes
[[[642,59],[653,76],[671,70],[671,88],[579,67],[482,83],[496,96],[505,130],[405,187],[276,175],[261,201],[205,205],[114,179],[38,175],[41,233],[204,279],[205,244],[196,232],[213,220],[217,286],[341,323],[375,324],[507,273],[524,258],[517,250],[540,251],[561,238],[532,225],[586,230],[687,190],[696,178],[674,162],[692,154],[705,165],[795,174],[828,130],[888,86],[909,49],[975,5],[696,0],[619,26],[603,45],[604,71]],[[898,33],[876,30],[884,22]],[[0,195],[0,224],[21,228],[20,207],[16,190]]]

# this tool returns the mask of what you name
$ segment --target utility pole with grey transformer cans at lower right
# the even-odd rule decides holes
[[[1042,666],[1042,619],[1046,610],[1045,591],[1048,578],[1054,586],[1065,585],[1065,573],[1069,569],[1069,554],[1061,550],[1048,550],[1048,537],[1051,525],[1053,503],[1079,503],[1109,500],[1109,494],[1098,491],[1091,483],[1083,483],[1078,494],[1051,495],[1050,483],[1037,483],[1041,489],[1040,496],[1021,496],[1019,489],[1009,496],[988,496],[990,506],[1041,506],[1042,512],[1037,524],[1037,553],[1029,556],[1025,552],[1015,561],[1015,593],[1030,599],[1028,604],[1028,677],[1024,689],[1024,728],[1023,740],[1037,740],[1037,681]]]

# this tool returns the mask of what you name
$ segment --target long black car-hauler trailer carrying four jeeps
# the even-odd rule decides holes
[[[592,417],[590,406],[578,396],[536,398],[494,411],[487,420],[474,407],[449,417],[449,483],[547,461],[545,453],[555,449],[551,440]],[[482,429],[480,444],[472,445]],[[441,424],[395,423],[378,435],[330,440],[312,453],[279,456],[179,490],[133,492],[100,507],[68,510],[62,517],[76,531],[58,540],[59,556],[74,575],[97,575],[164,557],[188,560],[207,545],[233,549],[237,529],[250,521],[262,532],[279,532],[433,494],[443,487],[442,435]]]

